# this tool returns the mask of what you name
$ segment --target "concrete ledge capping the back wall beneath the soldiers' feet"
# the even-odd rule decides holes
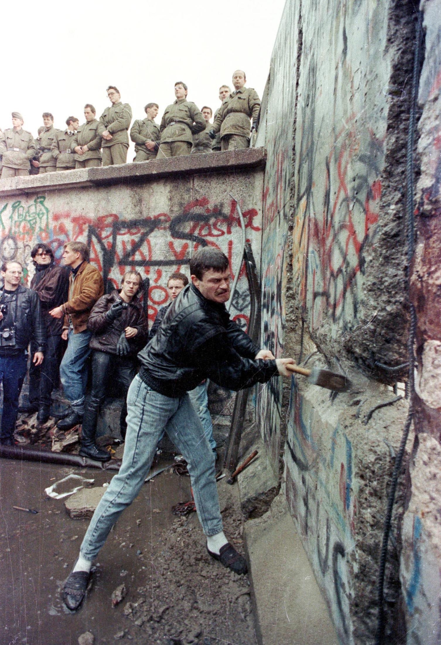
[[[0,181],[0,195],[15,195],[26,192],[63,190],[63,188],[83,188],[84,186],[103,186],[110,184],[132,183],[134,181],[155,181],[161,177],[179,177],[204,173],[228,172],[249,168],[264,168],[266,150],[246,148],[216,154],[197,154],[140,163],[126,163],[105,168],[84,168],[51,172],[30,177],[14,177]]]

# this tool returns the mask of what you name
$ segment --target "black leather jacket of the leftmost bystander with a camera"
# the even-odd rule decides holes
[[[0,295],[3,293],[0,292]],[[15,319],[15,297],[17,302],[17,318]],[[0,332],[10,322],[15,322],[15,346],[14,348],[0,347],[0,353],[16,353],[16,350],[26,350],[30,341],[34,341],[35,352],[44,352],[46,347],[46,324],[41,315],[40,299],[31,289],[22,284],[17,286],[15,297],[8,303],[8,316],[0,321]]]

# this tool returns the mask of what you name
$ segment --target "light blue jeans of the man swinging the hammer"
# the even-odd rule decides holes
[[[94,560],[113,524],[141,490],[164,430],[188,463],[199,521],[205,535],[222,531],[215,481],[215,457],[188,394],[171,399],[135,376],[127,395],[127,433],[119,473],[93,513],[81,554]]]

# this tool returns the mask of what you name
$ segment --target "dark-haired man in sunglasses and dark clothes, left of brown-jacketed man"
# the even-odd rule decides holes
[[[69,271],[54,263],[54,253],[48,244],[34,246],[31,257],[34,260],[35,275],[30,288],[40,299],[41,319],[46,327],[47,342],[43,363],[30,365],[29,404],[20,408],[20,412],[37,412],[37,421],[43,424],[49,419],[50,395],[58,382],[59,346],[63,333],[63,321],[53,318],[49,311],[66,302]],[[34,341],[31,341],[30,351],[36,351]]]

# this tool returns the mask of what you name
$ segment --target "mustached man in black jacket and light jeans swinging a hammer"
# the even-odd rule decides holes
[[[138,355],[141,370],[127,395],[123,463],[93,514],[64,583],[63,601],[70,610],[81,604],[92,562],[113,524],[141,490],[164,428],[188,462],[208,553],[236,573],[246,573],[245,559],[222,530],[214,455],[187,392],[204,378],[239,390],[277,373],[288,377],[286,364],[293,360],[275,360],[268,350],[259,351],[230,320],[224,304],[230,297],[230,266],[224,253],[199,250],[190,260],[190,272],[192,284],[173,301],[157,334]]]

